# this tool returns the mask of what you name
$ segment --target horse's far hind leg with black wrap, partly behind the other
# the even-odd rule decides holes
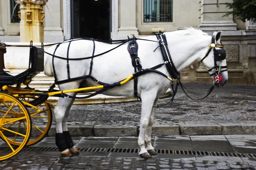
[[[73,96],[76,96],[76,94],[74,94]],[[75,99],[72,99],[72,101],[70,102],[70,105],[68,106],[64,119],[62,121],[62,130],[63,130],[63,135],[64,135],[64,139],[66,141],[67,147],[70,150],[70,152],[73,155],[78,155],[79,154],[79,150],[75,147],[73,140],[71,138],[70,132],[67,129],[67,118],[70,112],[70,108],[72,107],[73,103],[74,103]]]

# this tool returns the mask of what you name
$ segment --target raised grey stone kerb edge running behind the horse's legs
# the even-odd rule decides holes
[[[139,125],[105,124],[105,125],[68,125],[72,136],[137,136]],[[152,135],[255,135],[256,121],[240,121],[236,123],[213,122],[180,122],[153,125]],[[33,136],[33,133],[32,133]],[[52,125],[48,136],[55,136],[55,125]]]

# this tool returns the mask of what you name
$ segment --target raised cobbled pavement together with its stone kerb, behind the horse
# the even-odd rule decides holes
[[[184,85],[195,93],[210,87],[209,84]],[[174,102],[167,104],[170,99],[171,96],[158,102],[154,136],[256,134],[256,86],[226,85],[198,101],[189,99],[179,88]],[[73,105],[68,127],[72,136],[136,136],[140,112],[139,101]],[[121,128],[125,126],[133,127]],[[55,136],[54,118],[49,136]]]

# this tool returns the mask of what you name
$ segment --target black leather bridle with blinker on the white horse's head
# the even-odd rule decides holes
[[[220,48],[220,49],[216,49]],[[207,53],[205,54],[204,58],[201,59],[200,62],[203,63],[203,60],[209,55],[209,53],[211,52],[213,48],[213,55],[214,55],[214,67],[207,69],[207,71],[210,74],[210,71],[212,71],[213,69],[215,70],[215,73],[210,74],[210,76],[214,76],[215,82],[219,83],[221,82],[221,75],[220,73],[227,71],[227,65],[221,66],[221,65],[217,65],[217,61],[221,61],[226,59],[226,51],[224,50],[224,45],[220,44],[220,45],[216,45],[215,44],[215,35],[212,35],[212,41],[211,44],[209,45],[208,49],[207,49]],[[206,67],[207,68],[207,67]],[[224,70],[221,70],[222,68],[226,68]]]

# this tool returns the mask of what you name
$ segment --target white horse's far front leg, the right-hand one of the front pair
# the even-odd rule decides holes
[[[153,108],[152,108],[152,111],[151,111],[151,114],[150,114],[150,117],[149,117],[147,131],[146,131],[146,134],[145,134],[145,145],[147,146],[146,149],[147,149],[148,153],[151,156],[157,155],[157,152],[154,150],[154,147],[151,144],[151,134],[152,134],[152,126],[153,126],[153,123],[154,123],[154,116],[155,116],[155,113],[156,113],[156,108],[155,107],[157,106],[158,99],[159,98],[157,97],[157,99],[155,99],[155,101],[154,101],[154,105],[153,105]]]

